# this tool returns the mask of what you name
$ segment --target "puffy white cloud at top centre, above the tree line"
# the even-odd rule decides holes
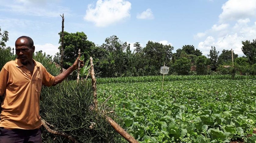
[[[96,7],[88,5],[84,19],[105,27],[130,17],[131,3],[126,0],[98,0]]]

